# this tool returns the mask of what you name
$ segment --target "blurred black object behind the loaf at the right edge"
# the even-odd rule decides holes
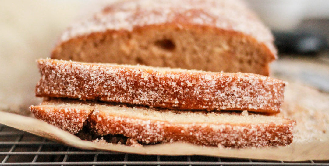
[[[280,54],[317,54],[328,49],[326,38],[306,31],[273,32]]]

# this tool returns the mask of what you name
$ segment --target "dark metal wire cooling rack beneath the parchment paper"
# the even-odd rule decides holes
[[[0,124],[0,165],[329,165],[327,161],[284,162],[208,156],[144,156],[85,151]]]

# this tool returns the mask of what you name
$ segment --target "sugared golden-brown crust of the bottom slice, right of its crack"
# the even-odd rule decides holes
[[[293,120],[281,124],[172,123],[115,116],[102,110],[95,110],[88,121],[97,135],[122,134],[147,144],[181,141],[234,148],[289,145],[295,126]]]

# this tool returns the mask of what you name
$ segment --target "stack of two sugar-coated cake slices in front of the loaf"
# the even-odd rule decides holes
[[[285,82],[278,79],[53,59],[38,64],[36,94],[50,99],[31,111],[72,134],[87,128],[92,135],[120,135],[126,144],[262,147],[292,142],[295,122],[266,115],[280,111]]]

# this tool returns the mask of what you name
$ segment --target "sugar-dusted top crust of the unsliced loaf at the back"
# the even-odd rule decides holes
[[[250,35],[276,55],[273,36],[240,0],[128,0],[105,7],[71,25],[61,42],[93,32],[132,31],[136,27],[173,24],[214,27]]]

